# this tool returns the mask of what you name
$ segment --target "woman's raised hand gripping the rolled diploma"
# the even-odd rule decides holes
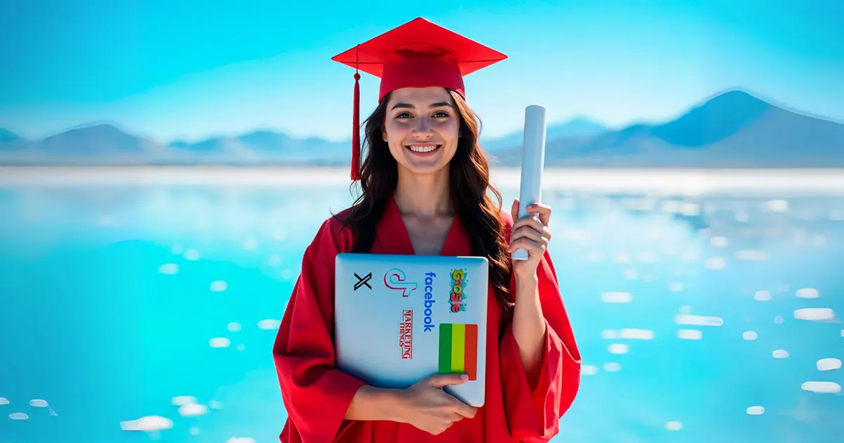
[[[527,260],[513,261],[513,273],[517,278],[536,277],[539,260],[542,259],[551,240],[551,231],[548,229],[551,208],[542,203],[533,203],[526,209],[528,214],[520,219],[519,200],[513,201],[511,208],[513,230],[508,251],[512,254],[517,249],[527,250]]]

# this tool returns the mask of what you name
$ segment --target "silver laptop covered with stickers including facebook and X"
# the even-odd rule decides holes
[[[483,406],[488,282],[484,257],[338,254],[338,369],[387,388],[468,374],[446,392]]]

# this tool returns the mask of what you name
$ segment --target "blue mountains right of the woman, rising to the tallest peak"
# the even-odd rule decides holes
[[[521,164],[521,146],[495,150]],[[717,95],[679,118],[588,138],[548,138],[549,166],[844,167],[844,125],[786,111],[744,91]]]

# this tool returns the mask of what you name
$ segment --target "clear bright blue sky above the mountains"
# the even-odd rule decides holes
[[[549,121],[620,126],[733,87],[844,121],[839,0],[7,0],[0,127],[349,138],[354,71],[330,57],[417,16],[509,56],[466,78],[489,137],[521,127],[526,105],[546,105]],[[361,93],[371,111],[377,79],[364,74]]]

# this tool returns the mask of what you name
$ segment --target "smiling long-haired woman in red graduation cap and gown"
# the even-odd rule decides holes
[[[352,177],[363,192],[327,219],[306,249],[273,347],[289,413],[281,441],[515,442],[557,434],[579,386],[580,354],[546,251],[550,209],[535,206],[529,210],[536,217],[521,219],[517,202],[511,213],[500,210],[464,100],[463,76],[503,58],[424,19],[334,57],[381,77],[381,94],[365,124],[369,149],[359,165],[355,84]],[[527,261],[511,262],[517,248],[527,249]],[[339,252],[489,259],[483,408],[443,389],[463,383],[462,375],[387,390],[334,367]]]

